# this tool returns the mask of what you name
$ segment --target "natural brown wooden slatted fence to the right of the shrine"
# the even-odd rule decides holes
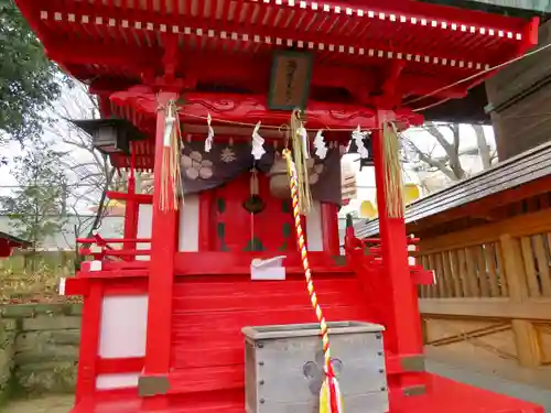
[[[426,344],[468,341],[525,367],[551,363],[551,209],[420,247],[436,275],[419,291]]]

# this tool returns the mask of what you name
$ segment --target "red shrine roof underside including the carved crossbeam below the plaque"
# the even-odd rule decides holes
[[[273,52],[289,48],[314,56],[309,128],[343,139],[343,128],[372,128],[374,108],[417,124],[422,118],[412,109],[464,97],[485,76],[446,86],[521,55],[538,32],[537,19],[413,0],[17,3],[47,55],[99,96],[104,117],[128,119],[151,137],[156,91],[166,86],[185,90],[180,116],[187,124],[204,127],[207,113],[215,126],[288,122],[289,113],[269,110],[267,96]],[[153,143],[136,150],[137,166],[153,167]],[[129,160],[111,162],[125,167]]]

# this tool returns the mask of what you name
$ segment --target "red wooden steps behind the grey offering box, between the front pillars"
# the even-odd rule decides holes
[[[317,278],[328,319],[367,320],[352,273]],[[174,284],[170,393],[244,388],[245,326],[315,323],[305,283],[251,282],[250,275],[181,278]]]

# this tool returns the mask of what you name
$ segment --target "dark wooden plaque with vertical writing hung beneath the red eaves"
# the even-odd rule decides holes
[[[268,107],[274,110],[305,109],[310,94],[312,55],[276,52],[272,62]]]

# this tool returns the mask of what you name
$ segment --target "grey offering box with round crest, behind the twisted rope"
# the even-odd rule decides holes
[[[383,327],[328,323],[333,367],[346,413],[388,412]],[[324,380],[317,324],[246,327],[247,413],[317,413]]]

